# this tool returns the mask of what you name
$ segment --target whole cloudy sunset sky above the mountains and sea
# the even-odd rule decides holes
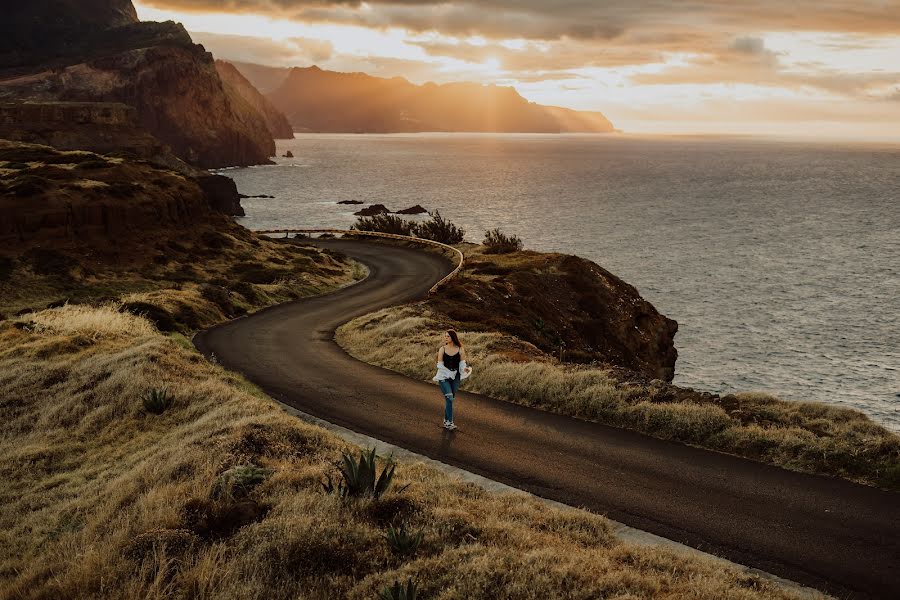
[[[511,85],[636,133],[900,139],[900,0],[141,0],[218,58]]]

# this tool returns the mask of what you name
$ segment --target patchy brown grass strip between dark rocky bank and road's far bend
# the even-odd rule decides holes
[[[0,274],[0,316],[50,303],[116,301],[148,314],[163,329],[183,333],[321,294],[365,275],[355,261],[249,232],[207,231],[194,240],[170,241],[154,260],[141,264],[82,264],[56,251],[6,260],[13,268]],[[156,308],[163,313],[156,314]]]

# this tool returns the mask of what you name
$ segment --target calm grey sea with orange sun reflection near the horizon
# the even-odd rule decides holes
[[[676,383],[860,408],[900,430],[900,144],[304,135],[224,171],[250,228],[439,209],[578,254],[676,319]]]

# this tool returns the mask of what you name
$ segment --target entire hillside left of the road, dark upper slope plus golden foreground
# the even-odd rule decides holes
[[[246,231],[177,173],[28,152],[0,164],[0,598],[362,599],[409,578],[424,598],[790,597],[420,464],[378,499],[327,492],[358,449],[188,336],[364,269]],[[405,555],[385,537],[403,525]]]

